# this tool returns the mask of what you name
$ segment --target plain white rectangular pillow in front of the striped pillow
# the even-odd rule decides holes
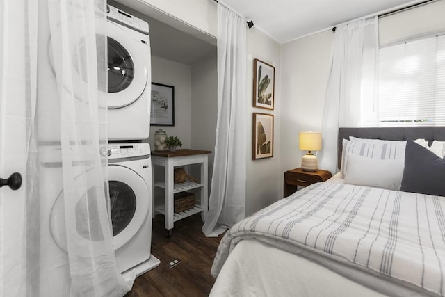
[[[398,191],[401,188],[405,160],[371,159],[358,154],[346,154],[345,183],[373,186]]]

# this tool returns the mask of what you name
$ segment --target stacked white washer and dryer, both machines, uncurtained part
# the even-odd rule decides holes
[[[147,22],[107,6],[108,179],[118,269],[140,275],[159,265],[151,252],[149,136],[151,50]]]

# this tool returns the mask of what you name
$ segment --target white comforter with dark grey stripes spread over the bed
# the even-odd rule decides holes
[[[254,238],[289,252],[295,246],[327,254],[416,291],[443,296],[444,212],[443,197],[314,184],[234,225],[218,247],[211,272],[218,275],[238,241]]]

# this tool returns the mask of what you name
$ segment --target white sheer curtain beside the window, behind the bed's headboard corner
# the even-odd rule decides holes
[[[362,127],[372,122],[375,109],[375,65],[378,17],[337,26],[332,45],[321,133],[320,168],[337,172],[339,127]]]

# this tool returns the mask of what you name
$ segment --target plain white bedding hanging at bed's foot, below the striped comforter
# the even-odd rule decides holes
[[[225,262],[210,296],[386,296],[315,262],[246,239]]]

